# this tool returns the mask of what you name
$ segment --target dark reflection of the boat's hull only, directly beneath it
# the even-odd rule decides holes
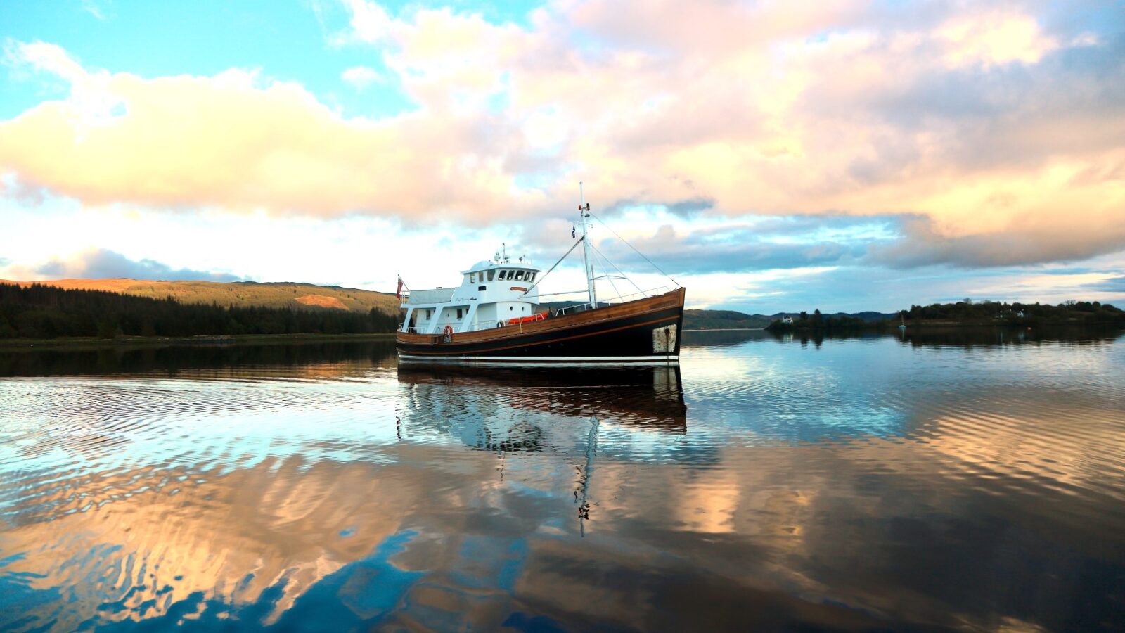
[[[482,407],[501,404],[583,419],[596,416],[662,433],[687,430],[687,405],[678,367],[598,367],[570,372],[497,367],[484,374],[456,365],[399,365],[398,381],[460,387],[446,398],[461,401],[478,394]]]

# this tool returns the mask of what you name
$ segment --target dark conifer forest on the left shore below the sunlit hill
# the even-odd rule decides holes
[[[118,336],[358,335],[393,332],[397,315],[377,309],[184,304],[105,291],[0,284],[0,339]]]

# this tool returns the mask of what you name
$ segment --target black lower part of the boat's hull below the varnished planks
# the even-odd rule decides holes
[[[574,327],[503,338],[442,344],[399,340],[403,363],[480,365],[678,365],[683,307],[619,316]],[[655,336],[674,326],[667,351],[654,351]],[[505,332],[506,335],[507,332]]]

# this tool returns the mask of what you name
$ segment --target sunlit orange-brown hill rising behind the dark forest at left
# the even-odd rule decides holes
[[[390,293],[317,286],[314,284],[258,282],[159,282],[142,279],[56,279],[48,282],[6,282],[29,286],[33,283],[64,289],[107,291],[133,296],[168,298],[180,303],[216,303],[222,306],[292,307],[297,310],[345,310],[369,312],[372,307],[398,314],[398,300]]]

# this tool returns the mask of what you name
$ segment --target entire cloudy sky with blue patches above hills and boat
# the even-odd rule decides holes
[[[549,268],[580,181],[602,296],[1125,304],[1118,1],[38,0],[0,45],[0,278],[448,287]]]

